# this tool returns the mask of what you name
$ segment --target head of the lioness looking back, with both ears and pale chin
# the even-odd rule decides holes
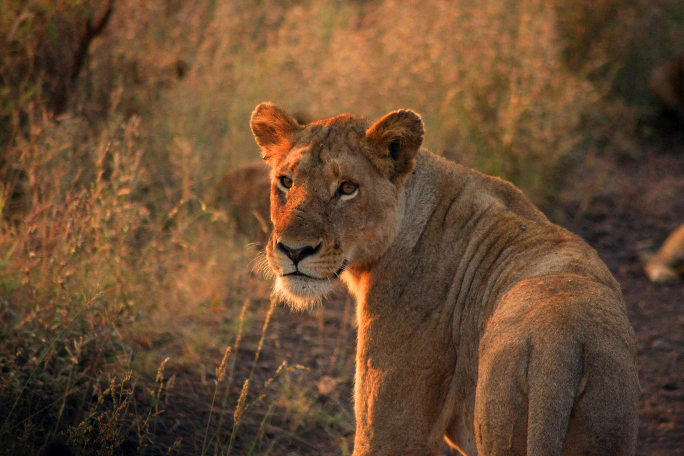
[[[301,126],[262,103],[252,131],[271,167],[266,254],[276,291],[305,308],[394,241],[423,124],[412,111],[395,111],[372,126],[346,114]]]

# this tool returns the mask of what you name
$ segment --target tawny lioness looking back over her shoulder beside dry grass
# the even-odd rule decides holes
[[[446,161],[394,111],[298,124],[262,103],[276,291],[356,297],[354,455],[633,455],[620,285],[512,184]]]

